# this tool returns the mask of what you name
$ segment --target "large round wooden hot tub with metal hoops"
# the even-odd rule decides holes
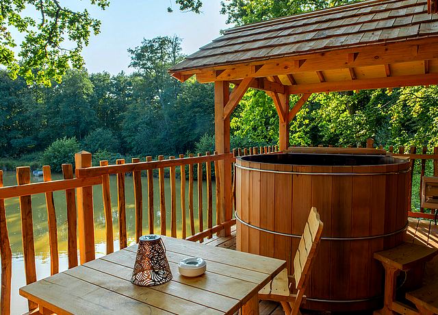
[[[376,152],[376,151],[374,151]],[[324,223],[306,308],[377,309],[383,268],[375,251],[395,247],[407,228],[409,161],[386,155],[280,153],[236,162],[237,249],[287,260],[311,207]]]

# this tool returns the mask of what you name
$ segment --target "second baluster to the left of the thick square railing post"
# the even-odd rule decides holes
[[[42,179],[52,181],[52,175],[49,165],[42,166]],[[50,248],[50,274],[60,272],[60,262],[57,251],[57,227],[55,214],[55,201],[53,201],[53,192],[46,192],[47,223],[49,225],[49,248]]]

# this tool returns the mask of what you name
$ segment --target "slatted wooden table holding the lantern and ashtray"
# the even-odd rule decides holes
[[[137,244],[20,289],[56,314],[259,314],[257,293],[286,266],[283,260],[163,236],[173,279],[153,287],[131,283]],[[203,257],[201,277],[179,275],[178,262]],[[48,312],[49,313],[49,312]],[[46,313],[44,313],[46,314]]]

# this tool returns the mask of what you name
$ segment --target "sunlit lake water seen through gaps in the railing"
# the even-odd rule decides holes
[[[61,174],[53,174],[52,179],[62,179]],[[15,172],[3,172],[4,186],[16,185]],[[42,181],[42,177],[32,177],[32,182]],[[128,244],[133,244],[136,237],[136,220],[135,220],[135,205],[133,197],[133,178],[127,176],[125,179],[125,194],[126,194],[126,216],[127,216],[127,238]],[[214,197],[214,181],[213,181],[213,222],[216,221],[216,198]],[[110,176],[111,186],[111,201],[112,201],[112,219],[114,231],[114,251],[119,249],[118,246],[118,214],[117,214],[117,186],[116,176]],[[194,223],[195,229],[198,231],[198,190],[197,182],[194,181]],[[166,188],[166,223],[167,234],[170,235],[170,181],[165,179]],[[188,181],[185,183],[186,190],[186,212],[187,212],[187,231],[190,233],[190,220],[188,217]],[[181,238],[181,207],[179,199],[180,180],[177,179],[177,227],[178,237]],[[148,234],[149,223],[147,215],[147,179],[142,177],[143,190],[143,234]],[[94,241],[96,244],[96,257],[105,255],[105,216],[103,214],[102,188],[94,186]],[[68,267],[67,260],[67,217],[66,217],[66,199],[63,191],[53,192],[55,200],[55,211],[57,220],[57,239],[58,251],[60,256],[60,271],[66,270]],[[21,217],[18,198],[6,199],[6,218],[8,223],[8,232],[12,249],[12,314],[23,314],[27,312],[27,300],[18,295],[18,288],[25,286],[25,273],[23,262],[23,245],[21,241]],[[159,233],[160,217],[159,217],[159,181],[154,178],[154,226],[155,232]],[[36,255],[36,273],[38,280],[50,276],[50,252],[49,252],[49,234],[47,227],[47,208],[44,194],[36,194],[32,196],[32,215],[34,220],[34,243]],[[204,227],[207,227],[207,186],[203,181],[203,220]],[[78,243],[79,247],[79,243]]]

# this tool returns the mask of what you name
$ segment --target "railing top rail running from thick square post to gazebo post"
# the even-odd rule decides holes
[[[198,164],[204,162],[214,162],[218,160],[233,160],[233,153],[222,153],[215,155],[203,155],[197,157],[183,157],[172,160],[161,160],[151,162],[138,162],[117,164],[109,166],[93,166],[89,168],[76,168],[76,177],[96,177],[102,175],[110,175],[117,173],[131,173],[133,171],[147,171],[155,168],[164,168],[170,166],[181,166],[188,164]]]

